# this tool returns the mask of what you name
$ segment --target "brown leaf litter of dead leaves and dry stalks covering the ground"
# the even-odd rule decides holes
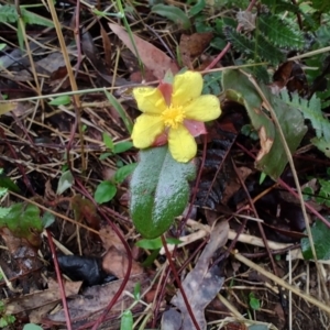
[[[224,32],[233,29],[235,22],[233,18],[238,15],[235,23],[243,25],[244,33],[253,40],[258,23],[266,22],[258,21],[258,14],[245,11],[244,8],[240,8],[240,11],[227,8],[232,14],[231,18],[218,19],[213,16],[217,9],[210,3],[202,2],[196,4],[198,10],[195,8],[196,11],[187,12],[183,10],[184,7],[173,10],[166,4],[153,9],[146,6],[139,7],[139,10],[134,7],[127,8],[125,14],[132,32],[127,30],[128,26],[123,28],[118,23],[119,21],[114,23],[112,19],[106,19],[107,12],[103,16],[97,16],[96,12],[82,2],[81,15],[78,19],[72,15],[70,10],[74,9],[72,4],[65,2],[70,8],[68,11],[57,8],[58,13],[63,10],[59,16],[69,53],[69,65],[75,69],[75,78],[81,92],[80,109],[76,109],[78,105],[75,103],[72,94],[72,77],[56,42],[57,38],[53,37],[56,35],[53,25],[45,28],[43,24],[31,25],[32,22],[28,22],[26,26],[34,29],[33,32],[26,30],[31,53],[29,57],[25,47],[19,46],[19,40],[22,37],[19,35],[20,31],[3,25],[1,21],[0,32],[7,46],[1,48],[0,55],[0,113],[6,113],[1,117],[0,123],[0,164],[7,176],[19,187],[19,190],[11,191],[4,180],[3,185],[0,185],[11,191],[1,195],[1,207],[13,208],[9,216],[10,223],[7,221],[9,218],[1,217],[3,249],[0,266],[1,273],[7,275],[8,279],[1,283],[7,298],[4,299],[4,294],[1,298],[4,299],[6,314],[14,315],[20,322],[15,329],[21,329],[21,324],[25,322],[26,317],[22,316],[23,314],[28,315],[30,322],[52,326],[54,329],[61,327],[72,329],[67,326],[70,321],[77,322],[76,328],[86,324],[92,328],[97,318],[114,299],[117,302],[111,309],[112,315],[107,317],[116,321],[106,320],[103,329],[119,329],[123,309],[131,309],[134,319],[140,318],[139,321],[147,323],[147,328],[157,328],[161,324],[162,329],[178,329],[178,324],[182,324],[183,329],[194,329],[188,308],[172,274],[166,280],[165,277],[157,277],[160,271],[164,274],[168,272],[167,262],[164,263],[157,250],[134,246],[140,237],[132,226],[125,202],[130,194],[128,182],[113,183],[117,195],[102,208],[96,206],[89,198],[105,178],[112,179],[112,176],[106,177],[106,173],[117,173],[124,165],[136,162],[136,151],[131,148],[131,145],[120,152],[114,148],[129,142],[127,123],[132,122],[138,116],[136,106],[131,97],[136,82],[156,82],[164,77],[167,69],[176,74],[183,66],[189,69],[205,69],[228,41],[233,42],[234,50],[229,53],[230,56],[222,57],[217,66],[234,66],[242,61],[245,63],[246,54],[239,58],[242,51],[238,52],[235,48],[238,41],[235,37],[239,36],[232,32],[230,37],[226,38]],[[98,7],[99,10],[101,8]],[[40,13],[40,9],[33,10]],[[23,14],[24,12],[26,14],[26,11],[23,11]],[[112,13],[118,14],[118,11]],[[205,16],[205,13],[209,15]],[[42,15],[51,18],[47,11],[42,12]],[[141,19],[139,22],[138,16]],[[35,18],[37,19],[37,15]],[[92,20],[84,21],[86,18]],[[308,22],[308,18],[305,19],[305,22]],[[69,21],[70,28],[67,25]],[[77,23],[84,26],[80,35],[81,48],[80,45],[74,45],[75,36],[72,33],[73,26],[77,29],[75,26]],[[185,30],[185,26],[190,24],[194,29]],[[3,32],[8,30],[11,31],[11,35]],[[326,37],[329,28],[324,26],[316,32],[318,40],[314,47],[321,47],[322,41],[329,40]],[[240,41],[244,45],[245,40]],[[219,42],[223,46],[217,48]],[[299,42],[301,43],[301,38]],[[266,54],[262,53],[263,56]],[[319,139],[329,133],[324,124],[328,119],[327,116],[323,117],[328,111],[323,108],[328,102],[327,96],[322,99],[322,103],[312,103],[314,94],[317,92],[317,97],[322,97],[329,80],[327,58],[322,54],[319,56],[316,61],[311,58],[310,62],[304,59],[280,62],[278,68],[273,66],[270,70],[275,73],[273,82],[260,84],[260,87],[277,111],[295,156],[301,185],[308,183],[310,177],[317,180],[311,195],[310,190],[304,190],[304,198],[309,206],[327,217],[327,200],[330,195],[324,184],[329,180],[328,141],[312,140],[316,136],[314,130],[318,132]],[[140,61],[144,73],[140,70]],[[316,69],[315,74],[306,69],[306,64],[317,66],[320,63],[324,65]],[[204,167],[200,180],[190,184],[190,198],[196,193],[196,199],[190,199],[196,210],[194,219],[189,219],[187,226],[180,222],[184,218],[167,226],[169,237],[177,237],[178,229],[183,228],[183,242],[173,246],[173,258],[200,329],[206,329],[212,322],[219,329],[221,327],[256,329],[257,326],[260,327],[257,329],[285,329],[288,309],[285,304],[279,302],[282,298],[278,296],[277,287],[272,286],[270,280],[243,262],[233,262],[231,258],[215,265],[212,262],[218,256],[218,250],[226,246],[229,253],[239,250],[256,264],[267,268],[270,256],[264,249],[267,244],[272,253],[279,256],[276,260],[276,267],[279,268],[277,276],[289,278],[289,256],[292,260],[300,260],[304,253],[306,258],[312,258],[311,245],[304,232],[305,220],[301,218],[300,206],[297,205],[296,198],[292,200],[288,197],[294,196],[292,190],[285,191],[278,186],[278,182],[276,183],[276,178],[282,175],[289,189],[294,189],[293,174],[286,166],[287,157],[283,152],[270,109],[265,107],[265,102],[261,100],[260,94],[250,84],[248,76],[229,69],[222,73],[222,78],[217,76],[219,73],[208,70],[206,73],[207,94],[211,91],[221,98],[223,114],[220,120],[208,125],[205,160],[202,139],[198,140],[200,147],[196,164],[204,164]],[[105,96],[105,87],[112,98]],[[271,88],[274,95],[268,92],[267,88]],[[277,98],[283,88],[309,100],[301,101],[293,95],[287,99]],[[221,95],[221,90],[224,89],[226,94]],[[61,99],[63,96],[65,102]],[[52,99],[55,99],[56,103],[52,102]],[[317,112],[310,112],[312,108],[310,105],[319,105]],[[124,109],[122,113],[127,117],[127,121],[118,113],[118,107]],[[77,122],[77,110],[81,114],[80,122]],[[244,131],[242,127],[246,124],[252,125]],[[79,140],[75,134],[76,125],[82,127],[84,140]],[[308,133],[305,134],[307,128]],[[113,147],[107,147],[102,139],[105,132],[111,136]],[[253,134],[258,138],[253,139]],[[310,142],[318,146],[319,151]],[[88,160],[86,172],[86,168],[82,170],[80,166],[82,144],[84,157]],[[239,172],[234,170],[233,164]],[[69,170],[73,179],[63,189],[63,185],[59,187],[61,177],[66,170]],[[275,180],[266,178],[262,183],[260,170]],[[58,187],[62,188],[57,190],[61,194],[56,195],[54,191]],[[24,217],[30,208],[35,211]],[[52,232],[57,251],[50,248],[51,242],[45,239],[46,235],[41,237],[44,229],[41,221],[45,211],[54,212],[56,217],[53,223],[47,224],[47,230]],[[217,224],[213,228],[219,218],[224,220],[220,221],[220,227]],[[310,221],[315,220],[315,217],[310,216]],[[257,221],[264,222],[266,240],[261,239],[255,226]],[[207,223],[210,227],[207,227]],[[326,273],[329,244],[324,245],[324,241],[329,228],[324,223],[327,222],[317,221],[312,227],[312,233],[317,255],[323,258],[320,263]],[[221,230],[221,226],[226,228]],[[134,260],[127,251],[124,242],[133,250]],[[302,244],[302,253],[299,242]],[[79,279],[65,280],[63,295],[58,292],[58,278],[54,283],[56,278],[54,257],[61,255],[59,251],[70,254],[65,255],[69,261],[69,267],[78,268],[77,261],[82,267],[88,266],[88,261],[91,261],[94,265],[97,263],[95,267],[97,272],[105,272],[107,276],[112,276],[112,279],[114,277],[120,279],[110,283],[105,280],[101,284],[90,284],[86,280],[81,284]],[[145,261],[152,265],[147,270],[142,267]],[[128,275],[130,267],[131,274]],[[316,272],[315,263],[309,263],[308,270],[302,262],[297,262],[295,267],[293,276],[308,272],[309,279],[307,282],[300,276],[300,282],[296,278],[288,280],[300,285],[308,295],[316,296],[320,292],[318,283],[324,278]],[[156,283],[151,284],[154,280]],[[138,283],[141,284],[141,292],[136,294]],[[148,292],[148,295],[144,296],[145,292]],[[260,310],[250,306],[250,293],[262,302]],[[148,301],[151,307],[139,300],[140,298],[136,299],[134,295]],[[326,293],[322,292],[322,295],[321,299],[326,300]],[[117,296],[120,296],[119,300]],[[63,305],[59,311],[53,311],[55,305],[65,297],[69,298],[68,307]],[[292,311],[294,328],[322,329],[319,323],[315,323],[318,319],[327,320],[327,315],[321,308],[308,306],[301,296],[294,296],[288,302],[298,306]],[[70,321],[66,308],[69,310]],[[153,317],[150,308],[154,311]],[[242,317],[246,312],[254,318],[255,324]],[[311,314],[317,316],[314,320],[308,317]],[[235,317],[228,317],[229,315]],[[157,323],[156,320],[161,319],[162,322]]]

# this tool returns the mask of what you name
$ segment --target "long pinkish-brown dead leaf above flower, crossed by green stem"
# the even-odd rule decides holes
[[[118,37],[124,43],[124,45],[136,55],[135,48],[128,32],[117,24],[110,23],[109,26],[112,32],[117,34]],[[174,75],[178,72],[177,64],[164,52],[134,34],[133,38],[142,63],[157,79],[163,79],[168,69],[170,69]]]

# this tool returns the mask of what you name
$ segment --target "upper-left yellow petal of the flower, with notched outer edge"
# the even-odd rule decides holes
[[[154,87],[136,87],[133,89],[140,111],[148,114],[161,114],[166,109],[162,92]]]

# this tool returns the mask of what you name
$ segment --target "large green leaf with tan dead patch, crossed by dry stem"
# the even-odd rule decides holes
[[[229,99],[245,107],[253,128],[258,132],[261,152],[256,158],[256,168],[273,179],[278,178],[288,161],[278,130],[267,111],[263,109],[263,100],[258,92],[240,70],[226,70],[222,74],[222,85]],[[307,131],[301,112],[272,95],[265,85],[261,84],[260,87],[274,109],[288,147],[294,153]]]

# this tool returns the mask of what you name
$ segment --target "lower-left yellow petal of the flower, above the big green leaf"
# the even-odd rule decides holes
[[[138,117],[132,132],[134,146],[140,148],[151,146],[164,129],[161,116],[141,114]]]

